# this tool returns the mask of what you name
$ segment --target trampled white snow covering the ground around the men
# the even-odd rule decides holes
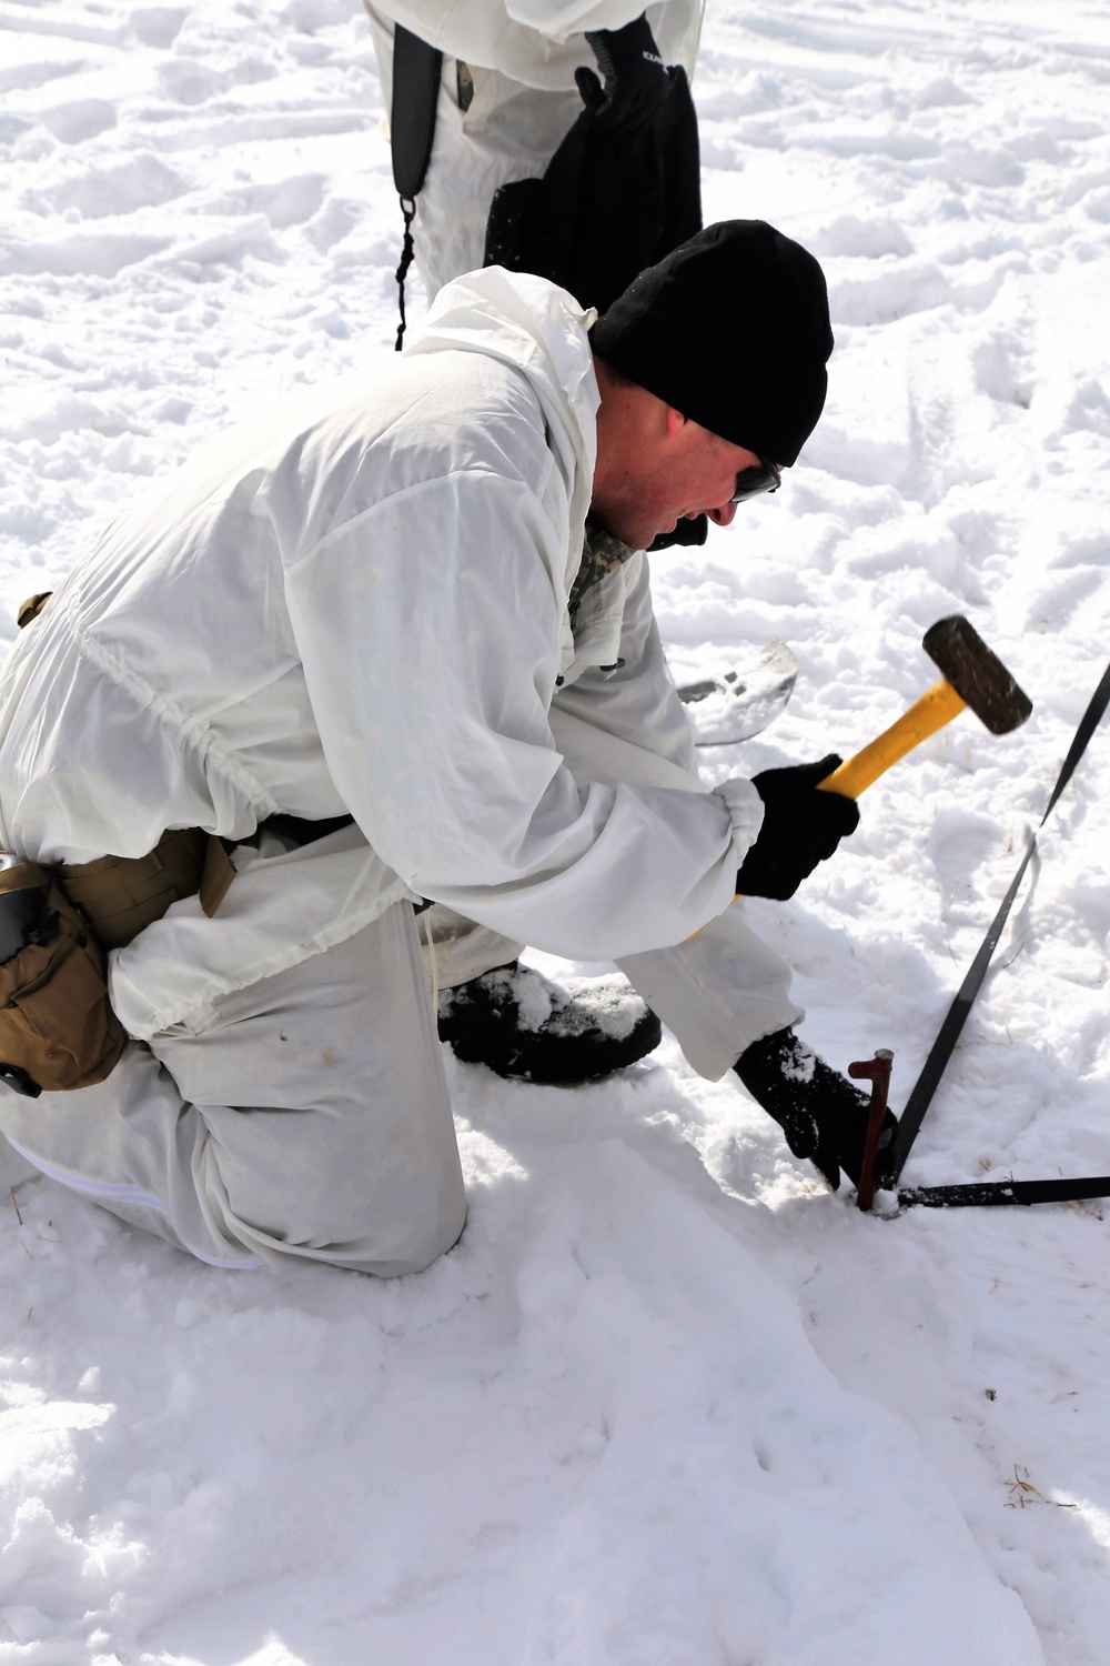
[[[1035,701],[752,905],[897,1108],[1107,656],[1110,15],[709,0],[696,95],[707,218],[814,248],[837,332],[787,488],[656,563],[679,678],[800,660],[707,770],[862,745],[952,611]],[[10,638],[148,476],[391,343],[399,217],[358,0],[0,0],[0,100]],[[1110,1171],[1108,823],[1103,731],[907,1181]],[[0,1661],[1107,1658],[1102,1206],[860,1216],[672,1045],[449,1076],[469,1225],[396,1283],[213,1271],[7,1158]]]

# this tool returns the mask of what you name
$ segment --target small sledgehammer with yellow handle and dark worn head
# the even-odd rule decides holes
[[[822,793],[859,798],[892,763],[935,735],[965,706],[982,718],[992,735],[1008,735],[1020,728],[1033,710],[1002,660],[962,613],[930,625],[922,648],[942,673],[940,681],[877,740],[827,775],[820,783]]]

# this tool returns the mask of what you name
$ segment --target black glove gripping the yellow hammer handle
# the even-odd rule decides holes
[[[820,763],[762,770],[752,786],[764,801],[764,825],[736,876],[742,896],[794,896],[819,861],[827,861],[847,833],[859,826],[859,806],[842,793],[819,793],[817,781],[842,760],[830,751]]]

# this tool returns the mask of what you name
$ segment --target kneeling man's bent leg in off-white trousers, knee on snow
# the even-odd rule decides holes
[[[393,1276],[443,1254],[466,1201],[413,910],[131,1043],[78,1093],[3,1093],[32,1163],[218,1266]]]

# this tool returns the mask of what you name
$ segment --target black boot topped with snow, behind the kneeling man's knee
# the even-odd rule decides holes
[[[439,991],[439,1040],[468,1065],[551,1088],[596,1081],[659,1046],[662,1030],[624,978],[562,990],[511,961]]]

